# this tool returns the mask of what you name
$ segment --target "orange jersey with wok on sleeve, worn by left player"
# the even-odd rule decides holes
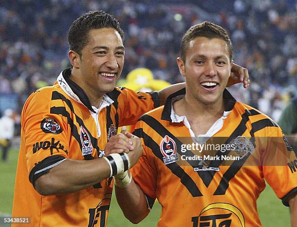
[[[103,96],[96,108],[70,80],[70,74],[71,70],[66,69],[53,86],[35,91],[21,115],[12,215],[30,217],[34,227],[104,227],[112,178],[79,192],[49,196],[39,195],[34,182],[66,159],[101,158],[108,138],[117,133],[118,127],[134,124],[142,114],[159,105],[156,92],[136,94],[116,87]]]

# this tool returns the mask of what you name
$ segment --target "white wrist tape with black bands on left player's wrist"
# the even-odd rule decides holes
[[[110,178],[127,171],[131,167],[129,157],[126,153],[113,153],[104,157],[104,159],[108,162],[110,167]]]

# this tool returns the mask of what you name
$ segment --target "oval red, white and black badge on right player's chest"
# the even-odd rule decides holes
[[[179,156],[176,153],[176,144],[173,139],[165,135],[160,143],[160,151],[163,155],[165,165],[179,161]]]

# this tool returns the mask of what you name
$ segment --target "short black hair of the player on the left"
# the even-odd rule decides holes
[[[117,19],[102,10],[90,11],[77,18],[70,26],[68,32],[69,49],[82,56],[82,49],[89,42],[89,32],[92,29],[114,28],[124,42],[124,32]]]

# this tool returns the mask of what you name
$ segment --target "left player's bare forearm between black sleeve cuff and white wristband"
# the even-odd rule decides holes
[[[41,195],[70,194],[109,176],[110,167],[103,158],[88,161],[67,159],[38,178],[34,186]]]

